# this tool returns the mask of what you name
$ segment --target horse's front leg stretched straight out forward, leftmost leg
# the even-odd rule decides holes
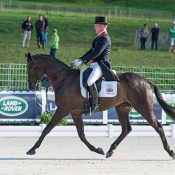
[[[53,115],[51,121],[48,123],[48,125],[44,128],[40,138],[35,143],[35,145],[26,153],[28,155],[34,155],[35,150],[40,147],[42,141],[44,140],[45,136],[61,121],[62,118],[64,118],[67,115],[67,113],[57,108],[55,114]]]

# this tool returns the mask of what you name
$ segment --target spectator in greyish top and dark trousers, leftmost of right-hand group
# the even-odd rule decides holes
[[[146,40],[148,38],[148,28],[147,28],[147,25],[144,24],[142,29],[140,30],[140,42],[141,42],[141,47],[140,49],[141,50],[145,50],[145,43],[146,43]]]

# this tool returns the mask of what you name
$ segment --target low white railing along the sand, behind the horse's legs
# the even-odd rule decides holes
[[[45,126],[0,126],[0,137],[39,137]],[[175,138],[175,124],[163,128],[167,137]],[[87,137],[117,137],[120,133],[120,125],[85,125]],[[75,126],[56,126],[48,136],[77,137],[78,134]],[[158,134],[151,126],[133,125],[129,136],[158,136]]]

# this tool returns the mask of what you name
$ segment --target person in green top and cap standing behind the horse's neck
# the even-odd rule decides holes
[[[50,55],[56,58],[57,50],[59,48],[59,36],[57,34],[57,29],[53,29],[53,34],[49,41]]]

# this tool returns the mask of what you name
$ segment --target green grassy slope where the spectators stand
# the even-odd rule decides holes
[[[44,11],[32,10],[2,10],[0,11],[0,63],[25,63],[24,54],[30,51],[36,53],[49,53],[49,48],[38,49],[36,34],[32,31],[30,49],[22,49],[20,26],[27,15],[32,17],[33,23],[39,14]],[[60,36],[59,59],[70,63],[80,57],[90,47],[95,37],[93,29],[95,15],[77,13],[49,12],[50,31],[58,29]],[[159,52],[151,52],[150,49],[141,52],[133,47],[133,33],[140,29],[143,23],[149,28],[158,22],[161,31],[167,32],[170,20],[150,20],[135,18],[110,17],[108,28],[112,39],[111,60],[114,66],[133,67],[175,67],[175,55],[167,53],[168,46],[162,47]],[[50,38],[51,32],[49,32]]]

